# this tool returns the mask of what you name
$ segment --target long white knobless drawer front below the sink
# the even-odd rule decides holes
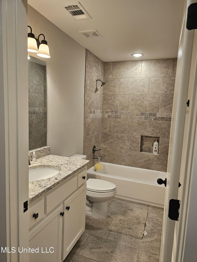
[[[45,214],[52,211],[77,189],[77,176],[45,196]]]

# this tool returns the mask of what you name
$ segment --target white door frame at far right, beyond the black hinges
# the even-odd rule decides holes
[[[194,31],[194,30],[193,30]],[[197,30],[194,31],[194,41],[191,59],[191,70],[187,100],[190,106],[186,109],[185,129],[183,136],[183,152],[180,179],[183,184],[179,189],[181,200],[179,221],[175,224],[173,261],[195,261],[196,250],[196,162],[197,162]],[[184,258],[184,260],[183,260]]]

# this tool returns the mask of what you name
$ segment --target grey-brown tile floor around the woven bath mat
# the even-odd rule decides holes
[[[148,211],[143,239],[107,230],[118,205]],[[107,218],[86,216],[86,228],[64,262],[159,262],[163,209],[114,198]]]

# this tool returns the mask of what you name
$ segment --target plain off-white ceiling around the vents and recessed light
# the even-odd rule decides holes
[[[92,19],[61,5],[80,2]],[[177,57],[184,0],[28,0],[28,4],[104,62]],[[102,37],[80,31],[96,29]],[[47,39],[47,37],[46,37]],[[50,47],[50,43],[48,43]]]

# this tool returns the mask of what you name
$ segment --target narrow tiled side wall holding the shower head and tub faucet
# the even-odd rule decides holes
[[[100,148],[101,141],[101,116],[103,87],[103,61],[86,49],[86,79],[85,79],[85,105],[84,105],[84,132],[83,154],[90,160],[88,168],[98,160],[93,160],[92,148],[95,145]],[[101,151],[95,152],[99,155]]]

